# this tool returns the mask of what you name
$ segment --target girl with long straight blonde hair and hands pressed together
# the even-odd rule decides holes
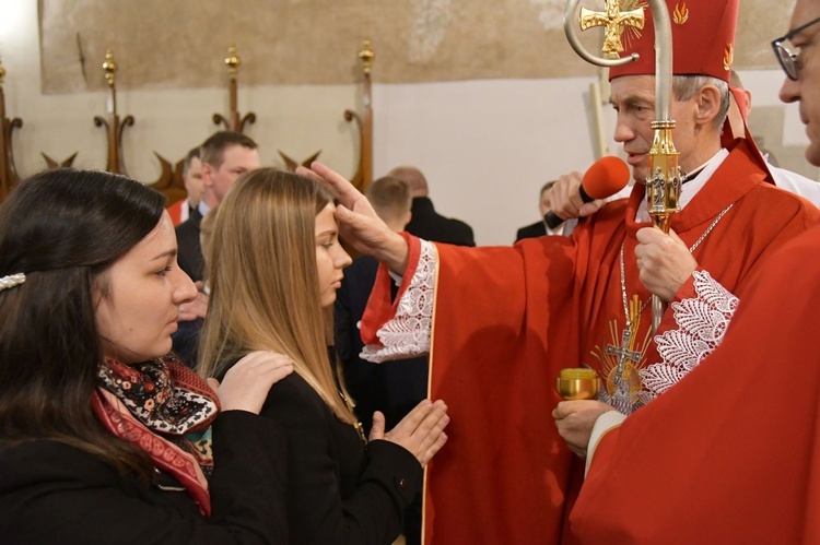
[[[351,261],[333,211],[309,178],[263,168],[235,182],[206,260],[200,374],[220,376],[251,351],[293,359],[260,413],[288,436],[290,543],[389,545],[448,417],[442,401],[425,400],[386,434],[376,413],[366,442],[327,349],[327,310]]]

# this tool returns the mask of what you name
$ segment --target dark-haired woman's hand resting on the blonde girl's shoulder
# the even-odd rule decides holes
[[[293,359],[276,352],[251,352],[231,367],[222,383],[214,378],[208,384],[216,391],[222,411],[248,411],[259,414],[270,387],[293,372]]]

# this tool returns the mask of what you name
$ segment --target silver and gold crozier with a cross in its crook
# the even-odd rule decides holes
[[[581,9],[578,25],[582,31],[594,26],[605,27],[604,47],[605,58],[589,55],[581,45],[573,19],[579,0],[569,0],[564,8],[564,33],[575,52],[584,60],[599,67],[618,67],[637,60],[639,55],[620,58],[623,51],[621,35],[626,26],[643,28],[643,8],[632,11],[621,11],[619,0],[606,0],[604,12]],[[678,152],[672,142],[675,120],[671,115],[672,96],[672,36],[669,12],[663,0],[649,0],[649,9],[655,23],[655,138],[649,150],[649,173],[646,180],[646,202],[649,215],[656,226],[664,233],[669,233],[669,223],[677,212],[680,198],[680,167]],[[660,318],[664,316],[665,304],[657,295],[652,296],[652,330],[657,331]]]

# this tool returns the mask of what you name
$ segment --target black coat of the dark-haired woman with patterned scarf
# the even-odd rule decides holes
[[[166,545],[284,543],[285,445],[245,411],[213,423],[211,519],[165,473],[150,485],[65,443],[0,443],[0,542]],[[162,486],[163,488],[160,488]]]

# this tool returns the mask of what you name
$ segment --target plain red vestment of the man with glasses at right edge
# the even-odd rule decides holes
[[[820,543],[820,227],[754,274],[723,344],[606,434],[584,543]]]

